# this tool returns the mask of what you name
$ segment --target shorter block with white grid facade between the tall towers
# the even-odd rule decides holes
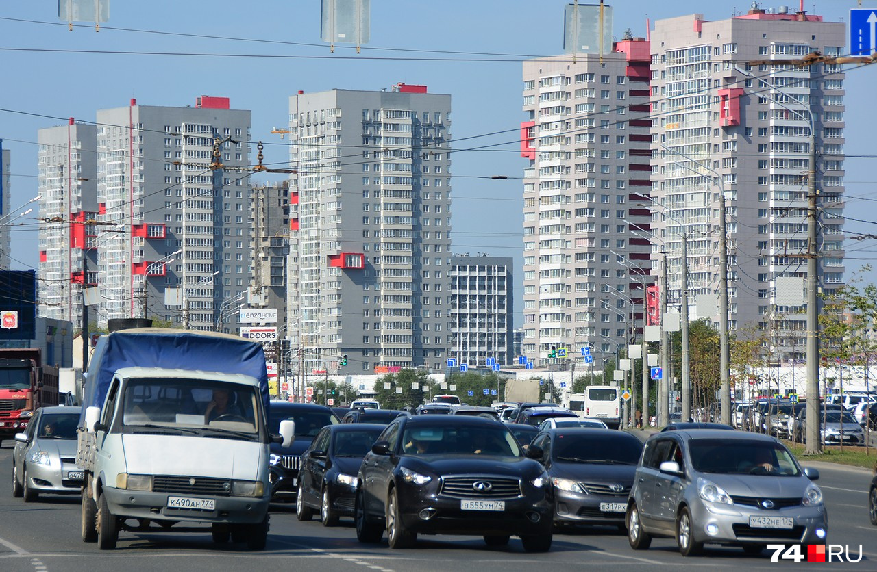
[[[513,258],[451,257],[451,346],[458,364],[515,363]]]

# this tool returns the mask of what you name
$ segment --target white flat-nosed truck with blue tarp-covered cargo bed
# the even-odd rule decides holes
[[[83,541],[111,549],[122,530],[196,532],[204,529],[172,526],[209,523],[217,543],[265,547],[268,446],[289,446],[294,425],[268,433],[259,343],[160,328],[104,335],[82,405]]]

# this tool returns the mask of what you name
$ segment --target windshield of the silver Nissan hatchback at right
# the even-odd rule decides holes
[[[693,439],[688,442],[691,464],[702,473],[720,475],[800,474],[788,449],[780,443],[749,439]]]

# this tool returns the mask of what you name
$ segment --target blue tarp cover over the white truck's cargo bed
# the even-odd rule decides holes
[[[102,335],[85,374],[85,409],[103,406],[113,374],[125,367],[242,373],[259,381],[262,404],[268,412],[268,374],[260,343],[237,335],[168,328],[126,329]]]

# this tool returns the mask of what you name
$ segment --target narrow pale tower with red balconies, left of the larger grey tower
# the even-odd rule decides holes
[[[96,128],[76,123],[39,130],[39,315],[82,328],[82,285],[96,284]],[[83,267],[89,277],[83,274]],[[91,320],[94,321],[92,315]]]

